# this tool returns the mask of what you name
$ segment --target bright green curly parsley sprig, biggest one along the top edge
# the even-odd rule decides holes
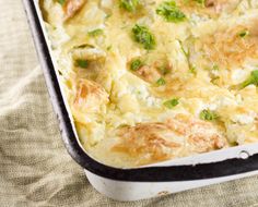
[[[175,1],[165,1],[159,5],[156,13],[167,22],[179,23],[186,20],[186,15],[179,10]]]

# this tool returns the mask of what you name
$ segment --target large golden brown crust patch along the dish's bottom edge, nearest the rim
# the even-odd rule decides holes
[[[164,133],[168,134],[165,137]],[[174,150],[184,149],[184,138],[178,143],[176,137],[186,137],[191,153],[207,153],[226,147],[226,139],[215,127],[204,121],[178,114],[164,123],[139,123],[119,130],[120,143],[112,150],[138,158],[139,165],[153,163],[176,157]]]

